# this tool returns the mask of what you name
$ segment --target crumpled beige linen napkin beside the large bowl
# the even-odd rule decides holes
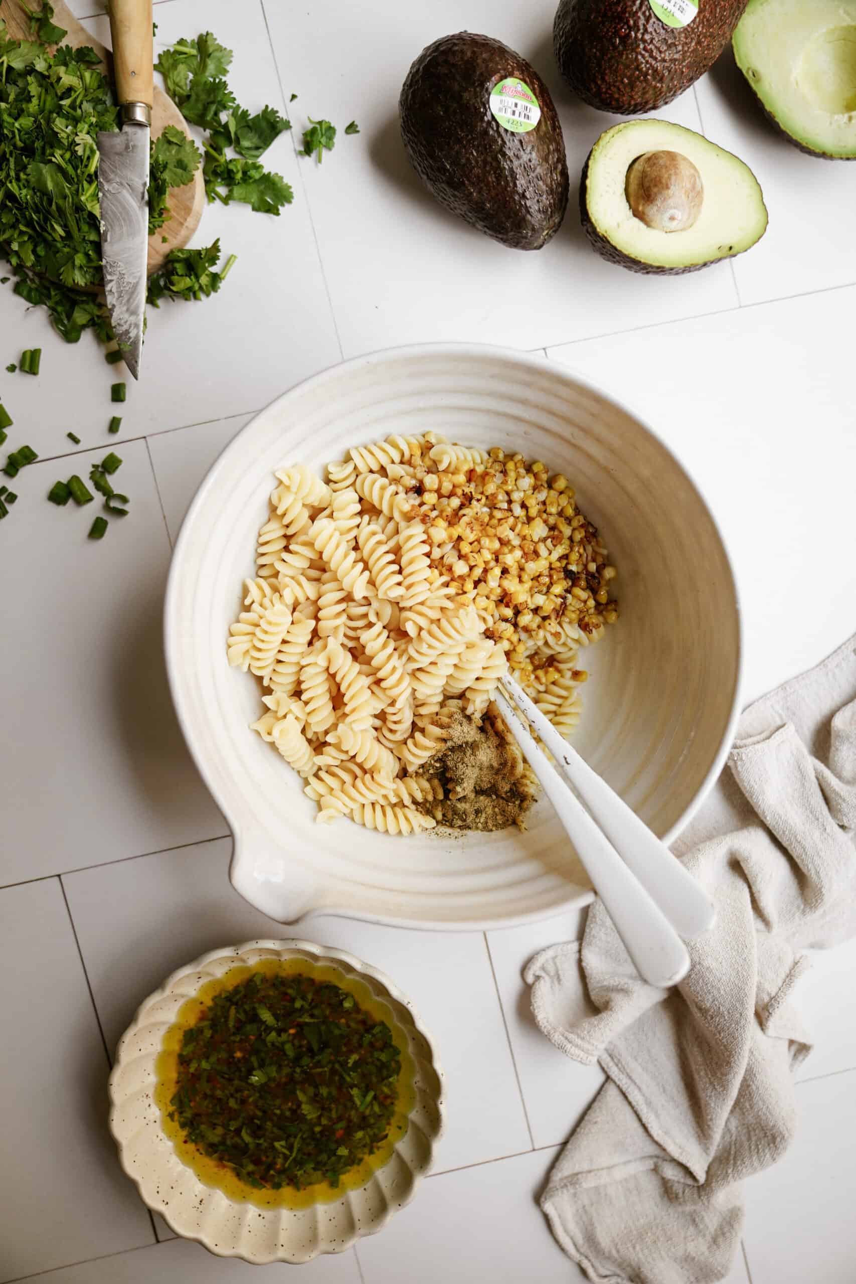
[[[775,1163],[796,1127],[793,1071],[811,1050],[792,1002],[802,951],[856,935],[853,828],[856,638],[749,705],[675,847],[717,910],[689,942],[687,980],[642,981],[599,901],[581,946],[551,946],[526,968],[544,1034],[608,1076],[542,1198],[590,1280],[728,1274],[739,1181]]]

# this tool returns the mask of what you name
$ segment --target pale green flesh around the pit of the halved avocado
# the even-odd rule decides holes
[[[692,227],[658,231],[637,218],[626,198],[628,169],[647,152],[678,152],[698,169],[702,209]],[[757,178],[730,152],[667,121],[626,121],[592,148],[580,185],[580,214],[604,258],[637,272],[692,272],[749,249],[766,231]]]

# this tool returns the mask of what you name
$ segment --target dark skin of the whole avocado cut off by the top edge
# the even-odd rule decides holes
[[[687,27],[667,27],[648,0],[560,0],[553,50],[574,92],[601,112],[653,112],[716,62],[747,0],[702,0]]]

